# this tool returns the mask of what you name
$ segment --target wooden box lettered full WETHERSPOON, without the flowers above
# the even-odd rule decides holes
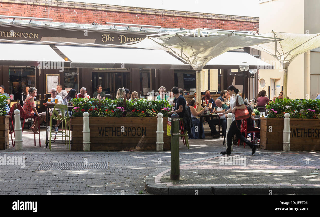
[[[164,150],[170,150],[163,118]],[[89,117],[91,150],[156,150],[157,117]],[[121,129],[124,126],[124,131]],[[72,117],[72,150],[83,150],[83,117]]]

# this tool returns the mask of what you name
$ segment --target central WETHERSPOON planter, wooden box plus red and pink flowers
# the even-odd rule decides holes
[[[166,134],[167,101],[145,99],[73,99],[72,149],[83,149],[83,113],[89,113],[91,150],[155,150],[157,114],[163,113],[164,150],[170,149]]]

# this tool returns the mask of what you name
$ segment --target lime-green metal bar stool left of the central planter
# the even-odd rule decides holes
[[[52,116],[50,118],[50,141],[49,141],[49,149],[51,151],[51,137],[52,137],[52,119],[62,121],[62,128],[61,131],[57,134],[54,132],[54,137],[65,137],[67,149],[68,149],[68,142],[69,142],[69,150],[70,150],[70,131],[67,128],[67,123],[69,121],[69,113],[68,113],[68,106],[67,105],[54,105]],[[68,139],[68,140],[67,140]]]

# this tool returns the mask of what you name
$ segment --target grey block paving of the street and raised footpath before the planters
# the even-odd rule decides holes
[[[148,174],[170,167],[170,151],[69,151],[64,144],[45,148],[34,146],[33,135],[23,135],[24,150],[0,150],[0,157],[25,157],[25,167],[3,165],[0,161],[0,194],[138,194],[145,191]],[[246,156],[251,149],[234,147],[234,156],[246,156],[246,168],[219,164],[223,139],[189,140],[190,149],[180,140],[180,175],[185,182],[168,180],[169,173],[157,176],[170,184],[319,184],[319,152],[282,152],[257,149],[275,156]],[[11,142],[10,142],[11,143]],[[306,164],[306,158],[309,158]],[[86,159],[85,159],[86,158]],[[37,170],[46,162],[109,162],[108,170]],[[22,167],[22,168],[21,168]],[[269,174],[272,173],[272,174]],[[298,174],[300,178],[293,178]],[[161,184],[161,183],[159,183]]]

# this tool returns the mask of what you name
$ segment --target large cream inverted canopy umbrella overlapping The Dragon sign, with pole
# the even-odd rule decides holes
[[[196,92],[200,93],[200,72],[209,60],[229,50],[275,40],[281,39],[198,28],[148,35],[142,41],[125,45],[145,49],[161,49],[173,53],[196,70]],[[197,97],[197,102],[200,104],[200,94]]]

